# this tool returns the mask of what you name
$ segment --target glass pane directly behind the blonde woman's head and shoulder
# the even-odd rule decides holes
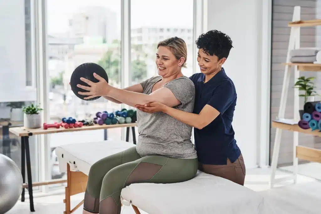
[[[193,4],[193,0],[131,1],[132,84],[158,75],[157,43],[174,36],[187,44],[187,68],[182,72],[187,77],[193,74]]]

